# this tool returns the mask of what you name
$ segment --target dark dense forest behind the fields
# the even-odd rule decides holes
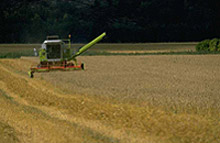
[[[46,35],[87,42],[198,41],[219,35],[219,2],[206,0],[2,0],[0,42],[42,42]]]

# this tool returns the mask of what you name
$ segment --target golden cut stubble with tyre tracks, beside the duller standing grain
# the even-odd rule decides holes
[[[28,78],[22,68],[28,66],[19,61],[0,60],[1,94],[13,98],[0,98],[0,122],[13,127],[21,142],[208,142],[219,137],[219,124],[197,115],[64,94]]]

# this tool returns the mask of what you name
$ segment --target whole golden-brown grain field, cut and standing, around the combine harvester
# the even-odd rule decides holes
[[[220,56],[79,60],[85,71],[34,79],[27,71],[38,59],[0,60],[0,123],[12,141],[220,142]]]

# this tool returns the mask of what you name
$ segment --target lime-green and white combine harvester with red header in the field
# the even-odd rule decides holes
[[[105,35],[106,33],[101,34],[90,43],[81,47],[79,51],[74,54],[71,54],[70,50],[71,35],[69,35],[69,39],[66,40],[61,40],[58,36],[47,36],[47,40],[44,41],[39,51],[40,64],[32,66],[28,75],[30,78],[33,78],[35,72],[83,70],[84,64],[78,63],[76,57],[102,40]]]

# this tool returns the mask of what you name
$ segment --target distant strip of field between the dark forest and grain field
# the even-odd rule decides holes
[[[76,52],[84,44],[72,44]],[[196,43],[139,43],[139,44],[96,44],[89,49],[87,55],[117,55],[117,54],[161,54],[195,52]],[[34,56],[40,44],[0,44],[0,58],[20,58]]]

